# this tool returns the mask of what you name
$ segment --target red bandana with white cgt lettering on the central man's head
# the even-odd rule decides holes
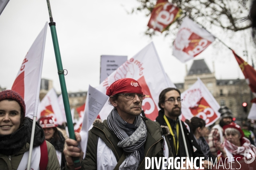
[[[131,78],[119,79],[113,82],[112,85],[109,86],[106,95],[113,96],[120,93],[143,94],[139,82]]]

